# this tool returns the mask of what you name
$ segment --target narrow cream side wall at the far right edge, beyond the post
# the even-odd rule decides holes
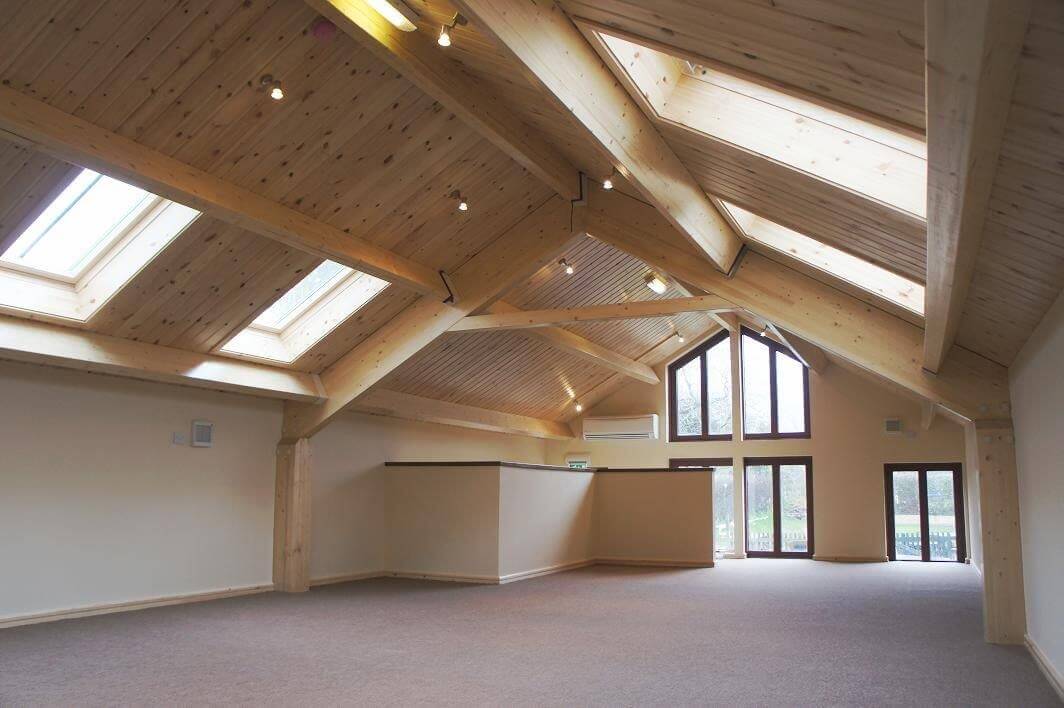
[[[1064,682],[1064,295],[1009,369],[1027,633]]]

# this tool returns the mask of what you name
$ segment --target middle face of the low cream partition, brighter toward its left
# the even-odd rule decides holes
[[[589,560],[595,475],[502,467],[499,575]]]

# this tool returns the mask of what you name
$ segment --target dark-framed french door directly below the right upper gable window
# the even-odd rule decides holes
[[[746,555],[813,555],[813,458],[744,458]]]

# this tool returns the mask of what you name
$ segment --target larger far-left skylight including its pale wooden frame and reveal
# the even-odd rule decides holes
[[[199,212],[92,169],[76,176],[0,254],[0,309],[87,322]]]

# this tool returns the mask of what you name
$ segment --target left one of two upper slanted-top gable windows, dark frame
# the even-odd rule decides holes
[[[669,441],[731,440],[732,382],[728,332],[668,367]]]

